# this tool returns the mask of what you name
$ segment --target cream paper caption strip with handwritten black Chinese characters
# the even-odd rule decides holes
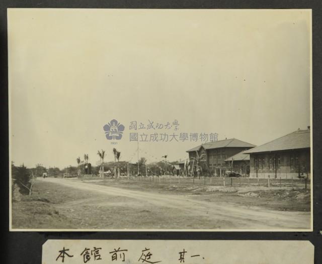
[[[250,248],[257,253],[250,255]],[[314,246],[289,240],[48,239],[42,248],[46,264],[276,264],[280,259],[313,264]]]

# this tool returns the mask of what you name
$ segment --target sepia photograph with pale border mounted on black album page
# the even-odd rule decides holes
[[[8,9],[11,231],[311,231],[311,10]]]

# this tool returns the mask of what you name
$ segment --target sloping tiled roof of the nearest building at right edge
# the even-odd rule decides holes
[[[245,151],[245,153],[269,152],[310,147],[310,130],[296,130],[273,141]]]

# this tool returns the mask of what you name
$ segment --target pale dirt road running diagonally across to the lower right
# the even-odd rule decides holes
[[[175,212],[175,214],[182,216],[189,215],[190,217],[195,217],[197,221],[198,219],[200,221],[206,219],[209,222],[220,223],[220,229],[280,230],[310,228],[309,212],[274,211],[259,207],[237,206],[225,202],[196,201],[191,196],[125,190],[84,183],[73,179],[46,178],[40,181],[60,184],[84,193],[90,193],[91,204],[96,203],[95,194],[106,196],[106,201],[102,201],[102,198],[99,200],[100,206],[111,205],[111,199],[122,197],[126,198],[125,200],[123,199],[124,206],[137,207],[138,209],[149,208],[149,214],[152,215],[156,215],[162,210],[172,214]],[[72,207],[73,204],[77,204],[77,201],[67,203],[66,206]],[[206,229],[203,225],[201,226],[198,227],[198,224],[195,224],[191,229]],[[172,228],[172,226],[169,226],[166,229]],[[149,228],[137,226],[134,229]]]

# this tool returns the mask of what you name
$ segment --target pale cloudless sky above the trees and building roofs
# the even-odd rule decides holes
[[[11,159],[63,168],[116,147],[136,162],[131,121],[255,145],[305,129],[310,38],[309,10],[9,9]],[[200,144],[140,142],[139,154],[177,160]]]

